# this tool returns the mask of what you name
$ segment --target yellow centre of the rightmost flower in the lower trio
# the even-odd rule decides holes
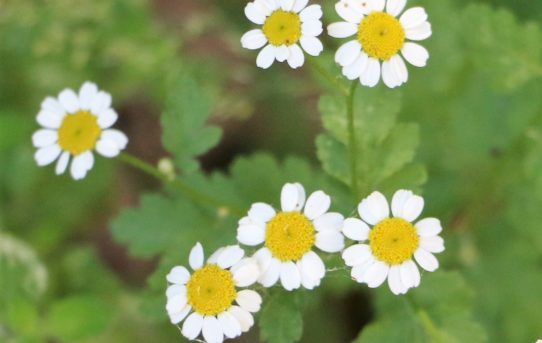
[[[414,225],[400,218],[385,219],[369,234],[373,255],[390,265],[401,264],[412,258],[420,245]]]

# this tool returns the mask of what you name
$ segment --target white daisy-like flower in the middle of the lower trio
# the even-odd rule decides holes
[[[284,185],[280,200],[278,213],[268,204],[253,204],[239,221],[237,240],[249,246],[264,244],[254,254],[261,270],[258,281],[264,287],[280,279],[288,291],[301,286],[313,289],[320,285],[326,268],[312,249],[341,251],[344,217],[328,212],[331,199],[322,191],[312,193],[305,203],[305,189],[299,183]]]

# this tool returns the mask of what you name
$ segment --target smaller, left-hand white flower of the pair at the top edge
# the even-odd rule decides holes
[[[257,50],[256,65],[269,68],[275,60],[288,61],[292,68],[305,62],[303,49],[312,56],[323,50],[318,37],[323,29],[320,5],[307,7],[309,0],[254,0],[245,7],[247,18],[261,29],[248,31],[241,38],[244,48]]]

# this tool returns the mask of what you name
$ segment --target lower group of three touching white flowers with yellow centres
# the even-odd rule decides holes
[[[411,191],[397,191],[391,209],[384,195],[374,192],[358,205],[360,218],[329,212],[327,194],[316,191],[306,198],[299,183],[283,186],[280,205],[277,211],[269,204],[255,203],[239,220],[238,242],[261,246],[253,248],[251,257],[245,257],[238,245],[227,246],[204,264],[198,243],[189,256],[194,272],[176,266],[167,275],[167,312],[173,324],[184,320],[181,332],[186,338],[201,334],[208,343],[220,343],[248,331],[262,298],[254,290],[239,288],[254,283],[268,288],[279,281],[287,291],[318,287],[327,269],[315,247],[326,253],[342,252],[356,282],[375,288],[388,280],[397,295],[420,285],[414,261],[433,272],[439,266],[433,254],[444,251],[438,219],[413,223],[424,201]],[[346,249],[345,237],[355,242]]]

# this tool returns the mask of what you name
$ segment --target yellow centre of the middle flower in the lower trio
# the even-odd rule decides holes
[[[300,212],[280,212],[267,223],[265,245],[283,262],[297,261],[314,245],[312,222]]]

